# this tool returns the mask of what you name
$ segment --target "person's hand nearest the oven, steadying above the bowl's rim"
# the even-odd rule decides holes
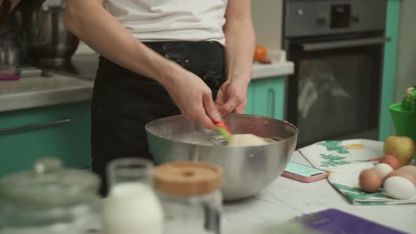
[[[231,79],[221,85],[216,94],[215,104],[223,116],[229,113],[244,113],[249,82],[250,80]]]

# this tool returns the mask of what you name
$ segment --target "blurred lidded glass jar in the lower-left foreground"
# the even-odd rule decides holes
[[[42,159],[0,180],[1,234],[74,234],[99,228],[99,178]]]

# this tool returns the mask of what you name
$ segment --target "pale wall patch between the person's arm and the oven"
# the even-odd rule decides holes
[[[257,44],[280,50],[283,0],[252,0],[252,20]]]

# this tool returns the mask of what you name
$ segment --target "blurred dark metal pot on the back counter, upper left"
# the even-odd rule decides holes
[[[65,27],[65,7],[16,11],[16,23],[27,59],[37,66],[61,66],[78,48],[79,39]]]

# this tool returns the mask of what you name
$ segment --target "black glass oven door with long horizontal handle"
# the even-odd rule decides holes
[[[378,139],[384,37],[292,39],[288,121],[298,147],[321,140]]]

